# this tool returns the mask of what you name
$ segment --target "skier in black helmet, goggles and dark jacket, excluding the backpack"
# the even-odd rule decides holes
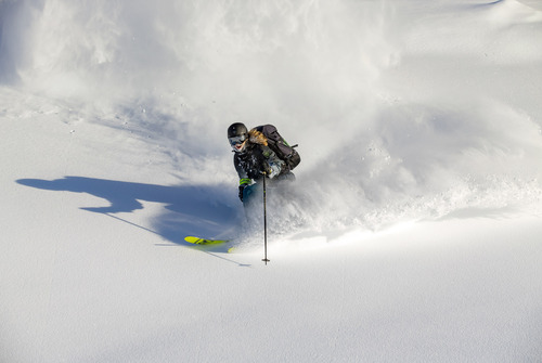
[[[240,177],[238,197],[245,207],[262,178],[270,180],[271,187],[280,181],[295,180],[286,163],[268,146],[267,138],[260,131],[248,131],[244,124],[235,122],[228,128],[228,139],[235,152],[233,164]]]

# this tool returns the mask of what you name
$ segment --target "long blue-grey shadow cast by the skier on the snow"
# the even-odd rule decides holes
[[[109,202],[107,207],[83,210],[107,215],[134,226],[156,233],[176,244],[188,245],[186,235],[223,237],[238,218],[234,203],[224,198],[223,185],[164,186],[124,181],[65,177],[56,180],[20,179],[18,184],[48,191],[88,193]],[[166,204],[167,212],[143,226],[115,216],[142,209],[139,200]]]

